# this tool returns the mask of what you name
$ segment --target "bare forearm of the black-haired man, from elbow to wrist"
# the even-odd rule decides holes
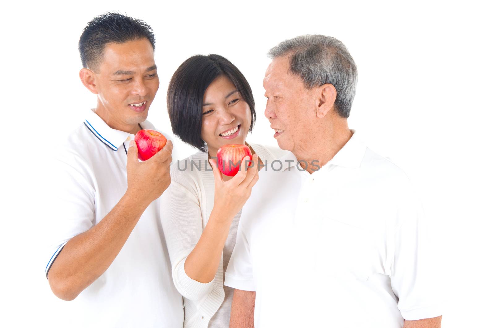
[[[147,207],[126,193],[98,224],[70,239],[48,273],[53,293],[72,300],[103,274]]]

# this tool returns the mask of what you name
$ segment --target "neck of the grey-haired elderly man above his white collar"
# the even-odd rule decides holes
[[[326,133],[323,133],[323,135],[319,134],[318,136],[315,136],[315,138],[307,139],[308,142],[311,140],[318,140],[318,142],[302,145],[302,147],[296,147],[292,152],[294,156],[296,156],[297,161],[299,161],[299,165],[309,173],[313,173],[320,169],[323,165],[333,159],[335,154],[337,154],[352,137],[352,132],[349,130],[347,124],[341,128],[334,127],[333,129],[324,132]]]

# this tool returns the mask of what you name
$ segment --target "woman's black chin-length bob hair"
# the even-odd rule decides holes
[[[256,121],[254,97],[243,73],[221,55],[195,55],[184,61],[170,79],[167,92],[167,109],[172,131],[182,141],[206,152],[201,139],[204,92],[219,76],[226,76],[251,110],[252,130]]]

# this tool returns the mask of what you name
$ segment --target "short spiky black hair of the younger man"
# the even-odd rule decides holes
[[[79,38],[79,54],[84,68],[98,69],[98,65],[109,43],[125,43],[148,39],[155,46],[151,27],[140,19],[116,12],[106,12],[91,20]]]

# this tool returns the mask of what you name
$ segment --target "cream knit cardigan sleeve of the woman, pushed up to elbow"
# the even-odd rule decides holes
[[[180,174],[179,174],[180,175]],[[174,285],[185,298],[197,301],[206,296],[215,279],[196,281],[184,270],[186,258],[203,232],[198,193],[190,177],[173,176],[170,186],[160,197],[160,219],[167,245]]]

